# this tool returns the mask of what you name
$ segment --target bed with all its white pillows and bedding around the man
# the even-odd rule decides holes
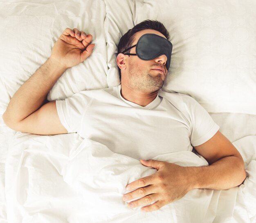
[[[0,2],[0,222],[256,222],[256,2],[254,0],[10,0]],[[196,99],[241,153],[247,178],[228,190],[194,189],[155,212],[133,210],[125,186],[155,172],[76,133],[33,135],[4,124],[18,88],[51,54],[66,27],[90,33],[95,48],[47,95],[120,84],[119,39],[135,24],[159,20],[173,44],[162,88]],[[152,157],[181,166],[194,153]]]

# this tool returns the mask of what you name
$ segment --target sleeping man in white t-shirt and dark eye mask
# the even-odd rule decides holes
[[[149,159],[140,161],[158,171],[127,185],[126,190],[133,191],[123,197],[124,201],[140,198],[130,202],[130,208],[155,201],[141,211],[158,210],[194,188],[222,190],[240,185],[246,177],[243,159],[209,114],[187,95],[159,91],[171,60],[168,38],[158,21],[137,24],[118,46],[121,85],[47,102],[47,93],[58,78],[89,57],[95,45],[90,43],[92,35],[66,28],[49,59],[13,95],[4,122],[14,130],[40,135],[77,132],[113,152]],[[159,42],[168,50],[150,58],[147,48],[159,51]],[[209,166],[181,167],[151,159],[193,148]]]

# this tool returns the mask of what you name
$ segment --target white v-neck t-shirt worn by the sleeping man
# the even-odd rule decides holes
[[[192,146],[208,141],[219,129],[188,95],[159,91],[153,102],[143,107],[124,99],[120,90],[121,85],[81,91],[56,101],[61,123],[68,133],[77,132],[83,139],[138,160],[192,151]]]

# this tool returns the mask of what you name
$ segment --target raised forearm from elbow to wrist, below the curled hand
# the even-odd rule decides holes
[[[53,63],[49,58],[16,91],[9,102],[3,118],[12,122],[18,122],[40,108],[47,97],[47,93],[49,93],[65,70],[65,68]]]

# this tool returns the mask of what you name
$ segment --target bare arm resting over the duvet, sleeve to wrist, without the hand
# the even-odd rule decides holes
[[[209,166],[187,167],[192,189],[225,190],[243,183],[246,178],[243,158],[220,131],[194,148]]]

